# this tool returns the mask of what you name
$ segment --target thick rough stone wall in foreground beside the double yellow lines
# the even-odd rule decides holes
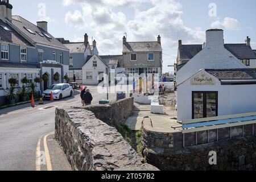
[[[109,106],[97,108],[111,110]],[[73,170],[158,170],[147,164],[114,127],[85,108],[56,108],[55,138]]]

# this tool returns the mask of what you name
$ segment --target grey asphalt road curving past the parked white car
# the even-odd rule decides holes
[[[97,93],[96,86],[90,86],[90,90],[93,96],[92,104],[106,98],[106,94]],[[55,106],[81,106],[79,93],[75,92],[73,97],[61,101],[44,101],[44,105],[34,108],[26,104],[0,110],[0,171],[35,171],[38,142],[41,141],[42,146],[43,138],[55,130]],[[110,100],[114,100],[114,94],[110,95]],[[46,106],[49,108],[42,109]],[[59,149],[51,147],[52,139],[48,138],[49,148],[53,151],[51,155],[54,155],[55,151],[59,153]],[[58,159],[57,156],[52,156],[52,159],[59,163],[65,160]],[[61,170],[61,167],[55,169]]]

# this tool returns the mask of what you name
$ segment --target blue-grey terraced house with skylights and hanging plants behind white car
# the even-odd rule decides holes
[[[46,77],[40,83],[45,90],[53,83],[63,82],[69,71],[69,49],[48,32],[47,22],[29,22],[12,15],[9,1],[0,2],[0,105],[5,104],[9,78],[23,77],[30,82],[35,77]],[[56,79],[58,78],[58,79]]]

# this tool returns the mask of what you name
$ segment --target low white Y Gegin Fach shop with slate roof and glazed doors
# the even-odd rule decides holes
[[[201,69],[177,85],[179,121],[256,111],[256,69]]]

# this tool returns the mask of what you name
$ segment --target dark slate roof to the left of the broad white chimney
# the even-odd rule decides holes
[[[203,49],[203,45],[182,45],[179,49],[181,60],[191,60],[197,53]]]

